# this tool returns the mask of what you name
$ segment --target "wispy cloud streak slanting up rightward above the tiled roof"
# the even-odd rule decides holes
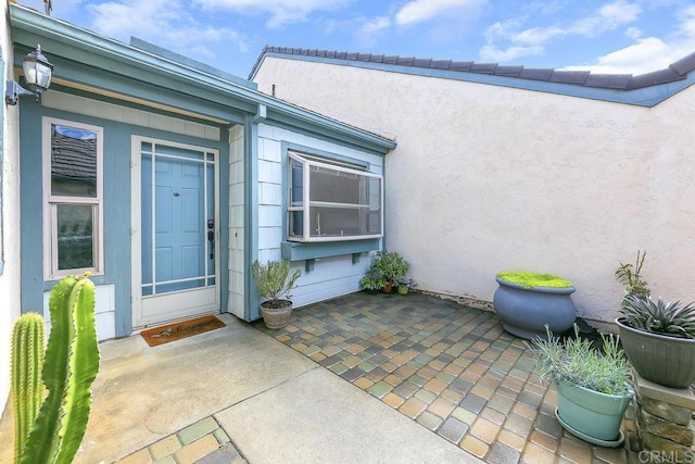
[[[634,22],[642,8],[634,2],[617,0],[602,5],[595,14],[580,17],[566,26],[522,26],[535,16],[522,16],[497,22],[485,30],[486,43],[480,49],[483,60],[507,61],[514,58],[542,53],[551,40],[566,36],[594,37]],[[500,43],[503,43],[502,46]]]

